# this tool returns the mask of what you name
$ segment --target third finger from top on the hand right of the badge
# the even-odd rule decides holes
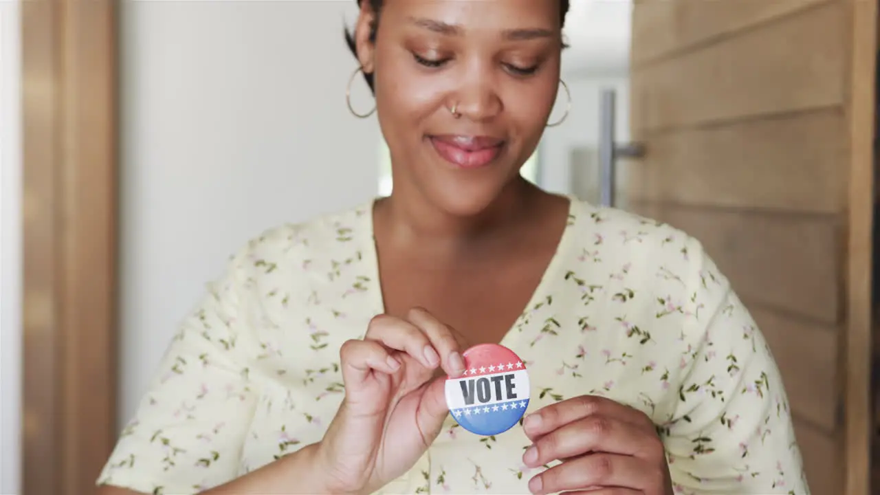
[[[662,493],[659,468],[630,455],[589,454],[547,469],[529,480],[532,493],[590,491],[592,488],[629,490],[623,493]],[[613,493],[613,491],[612,491]]]

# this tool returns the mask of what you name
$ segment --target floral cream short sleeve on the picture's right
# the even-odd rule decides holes
[[[662,432],[675,492],[809,495],[773,354],[700,243],[688,250],[690,365],[676,417]]]

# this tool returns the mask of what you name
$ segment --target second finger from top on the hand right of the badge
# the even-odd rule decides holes
[[[655,446],[656,444],[656,446]],[[654,460],[662,454],[662,444],[651,435],[617,418],[590,416],[549,432],[523,454],[523,462],[537,468],[556,459],[567,459],[591,452],[637,455]]]

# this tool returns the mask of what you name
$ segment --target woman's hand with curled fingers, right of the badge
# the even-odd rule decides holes
[[[523,427],[532,440],[526,466],[562,462],[532,477],[532,493],[672,494],[663,442],[640,410],[582,395],[534,412]]]

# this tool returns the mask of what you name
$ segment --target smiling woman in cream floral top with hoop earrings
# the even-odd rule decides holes
[[[363,2],[351,44],[392,196],[233,257],[100,493],[809,492],[774,360],[700,243],[520,177],[566,11]],[[480,343],[532,380],[523,425],[494,437],[444,403]]]

